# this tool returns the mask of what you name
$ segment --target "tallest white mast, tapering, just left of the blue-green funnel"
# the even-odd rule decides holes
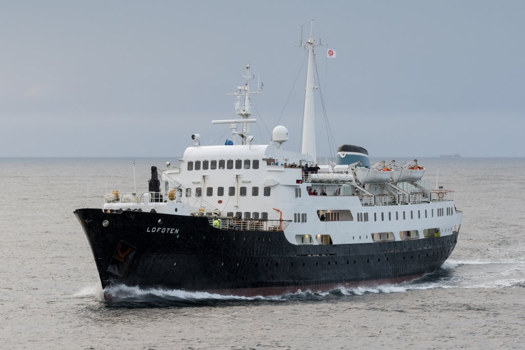
[[[302,147],[301,153],[313,157],[313,161],[317,162],[316,154],[316,118],[314,113],[314,86],[313,79],[313,47],[315,46],[312,38],[313,18],[310,25],[310,38],[306,43],[308,49],[308,69],[306,75],[306,88],[304,88],[304,115],[302,119]]]

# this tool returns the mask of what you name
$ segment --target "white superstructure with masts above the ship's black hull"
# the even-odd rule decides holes
[[[240,119],[228,123],[233,142],[201,146],[192,135],[178,166],[162,171],[162,200],[154,193],[117,198],[109,196],[104,210],[154,210],[177,215],[204,215],[220,227],[257,230],[269,223],[282,229],[292,244],[352,244],[423,239],[458,231],[461,212],[453,191],[431,190],[424,168],[325,166],[316,163],[314,132],[314,41],[306,44],[308,73],[304,102],[301,152],[286,149],[288,130],[277,126],[269,145],[255,145],[248,123],[253,112],[246,67],[246,83],[238,87],[235,109]],[[239,128],[241,128],[239,130]],[[293,130],[292,132],[298,132]],[[188,135],[190,136],[190,135]],[[310,194],[317,192],[317,195]],[[124,202],[124,198],[127,200]],[[281,216],[282,215],[282,216]],[[273,221],[272,221],[273,220]]]

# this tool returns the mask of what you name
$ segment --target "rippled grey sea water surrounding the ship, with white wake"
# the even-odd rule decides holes
[[[138,192],[168,160],[135,159]],[[419,159],[464,217],[417,280],[275,297],[115,286],[107,302],[73,211],[134,191],[132,161],[0,158],[0,348],[525,347],[523,158]]]

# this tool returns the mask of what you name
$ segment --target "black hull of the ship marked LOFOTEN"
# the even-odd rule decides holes
[[[103,288],[125,284],[267,296],[396,283],[437,269],[458,236],[455,232],[405,241],[295,245],[282,231],[219,230],[201,217],[101,209],[79,209],[75,214]]]

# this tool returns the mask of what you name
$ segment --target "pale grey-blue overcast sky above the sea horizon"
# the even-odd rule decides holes
[[[271,132],[312,17],[314,38],[337,51],[317,52],[337,145],[523,156],[522,1],[5,1],[0,157],[180,156],[195,132],[224,143],[225,126],[210,121],[234,117],[226,93],[248,61]],[[288,149],[299,149],[305,77],[303,67],[279,121]],[[329,155],[319,99],[316,110],[318,155]],[[252,133],[268,140],[260,122]]]

